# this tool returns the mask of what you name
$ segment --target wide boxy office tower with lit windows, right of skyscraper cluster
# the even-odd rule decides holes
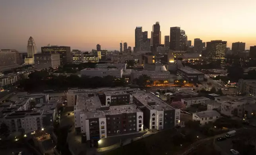
[[[202,53],[202,56],[212,60],[224,60],[226,47],[227,42],[222,40],[212,40],[211,42],[206,43],[206,52]]]

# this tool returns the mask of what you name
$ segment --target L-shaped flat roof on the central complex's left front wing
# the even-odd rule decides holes
[[[96,94],[95,96],[88,96],[88,93],[77,95],[76,110],[81,110],[81,113],[86,115],[86,119],[104,118],[106,117],[105,115],[141,112],[135,104],[110,106],[109,110],[101,110],[102,105],[99,96]]]

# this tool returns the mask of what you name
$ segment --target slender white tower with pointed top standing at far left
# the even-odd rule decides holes
[[[27,41],[27,58],[25,58],[25,64],[34,64],[34,54],[37,54],[37,46],[35,40],[29,37]]]

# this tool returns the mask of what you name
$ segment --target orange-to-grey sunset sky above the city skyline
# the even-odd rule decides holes
[[[188,40],[256,45],[256,0],[1,0],[0,49],[27,51],[32,36],[42,46],[65,45],[82,51],[134,47],[135,28],[150,34],[159,21],[161,42],[180,26]],[[150,38],[150,35],[148,35]]]

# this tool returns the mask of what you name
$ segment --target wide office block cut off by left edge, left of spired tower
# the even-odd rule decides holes
[[[2,49],[0,51],[0,71],[19,67],[21,63],[19,52],[15,49]]]

